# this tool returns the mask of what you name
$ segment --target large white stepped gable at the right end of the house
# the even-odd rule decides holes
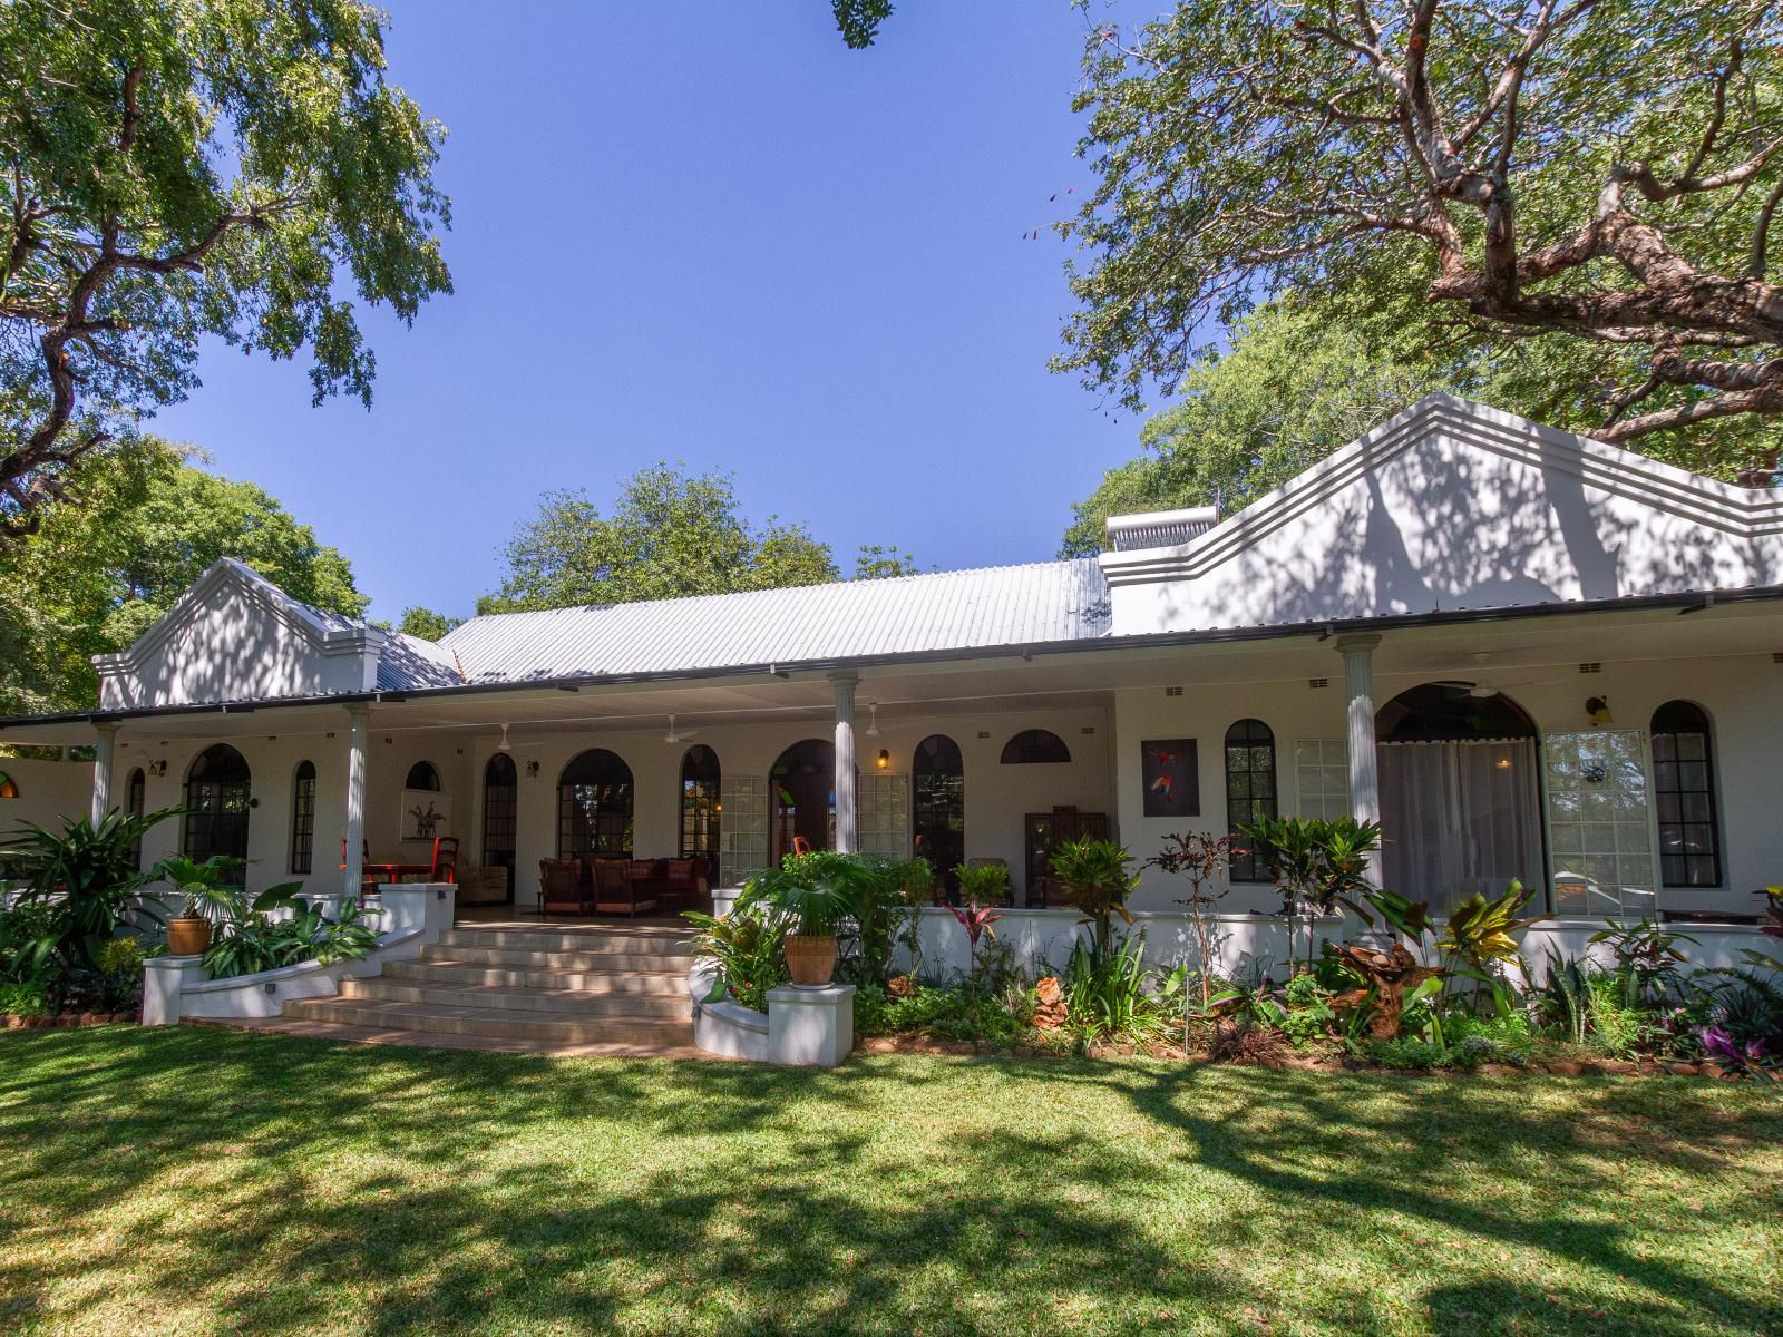
[[[1104,553],[1114,635],[1783,583],[1783,497],[1432,396],[1175,547]]]

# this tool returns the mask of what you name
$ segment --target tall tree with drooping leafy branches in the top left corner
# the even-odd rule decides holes
[[[0,5],[0,545],[207,333],[369,405],[351,296],[407,323],[449,291],[442,134],[360,0]]]

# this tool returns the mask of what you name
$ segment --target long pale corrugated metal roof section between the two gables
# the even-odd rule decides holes
[[[1089,640],[1109,631],[1093,558],[790,590],[492,613],[440,649],[472,683],[735,668]]]

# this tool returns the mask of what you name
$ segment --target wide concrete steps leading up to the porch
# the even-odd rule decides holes
[[[692,932],[660,925],[453,929],[414,961],[285,1005],[276,1029],[366,1043],[685,1055]],[[348,1034],[351,1032],[351,1034]]]

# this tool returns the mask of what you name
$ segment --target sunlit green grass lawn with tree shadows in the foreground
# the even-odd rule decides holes
[[[0,1333],[1783,1332],[1783,1087],[0,1034]]]

